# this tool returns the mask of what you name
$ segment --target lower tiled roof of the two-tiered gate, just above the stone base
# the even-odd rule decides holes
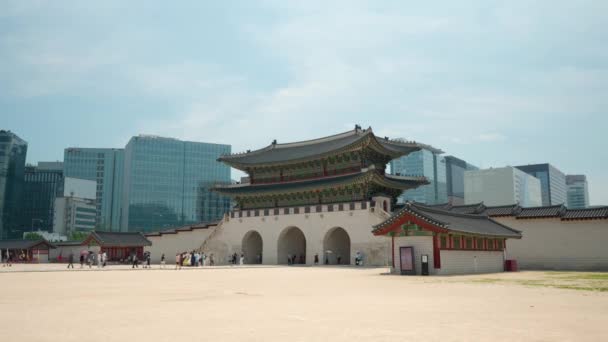
[[[388,188],[411,189],[428,184],[425,177],[383,175],[374,168],[364,169],[347,175],[330,176],[299,181],[266,183],[266,184],[231,184],[220,185],[213,190],[227,195],[258,195],[276,192],[315,190],[339,185],[373,182]]]

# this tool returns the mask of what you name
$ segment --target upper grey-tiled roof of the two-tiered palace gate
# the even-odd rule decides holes
[[[261,165],[304,162],[353,149],[357,144],[365,142],[366,139],[371,139],[370,141],[373,142],[375,148],[382,150],[383,153],[390,155],[392,158],[418,151],[421,148],[442,152],[431,146],[416,142],[401,142],[389,140],[388,138],[378,138],[374,135],[371,128],[360,129],[357,127],[352,131],[313,140],[286,144],[273,142],[259,150],[224,155],[218,160],[238,169]]]

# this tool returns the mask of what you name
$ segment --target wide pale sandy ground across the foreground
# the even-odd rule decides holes
[[[332,267],[63,267],[0,268],[0,340],[608,340],[608,292],[511,281],[540,273],[429,278]]]

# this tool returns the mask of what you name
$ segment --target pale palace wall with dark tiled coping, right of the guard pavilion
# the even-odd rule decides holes
[[[509,241],[507,246],[507,258],[517,260],[520,269],[608,271],[608,206],[522,208],[477,203],[436,207],[485,214],[521,231],[522,239]]]

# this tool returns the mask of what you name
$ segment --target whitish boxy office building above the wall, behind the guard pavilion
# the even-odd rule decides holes
[[[542,205],[541,183],[538,178],[511,166],[466,171],[464,202],[536,207]]]

